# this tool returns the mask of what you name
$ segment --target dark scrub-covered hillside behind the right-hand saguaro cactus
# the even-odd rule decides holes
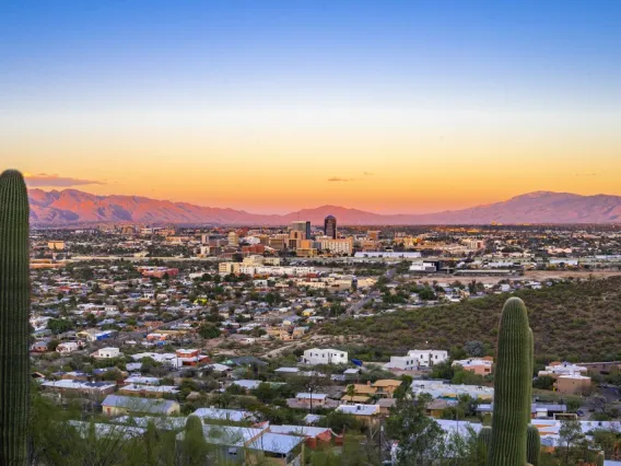
[[[528,306],[537,358],[582,362],[621,359],[621,277],[562,283],[515,295]],[[499,318],[507,298],[492,295],[378,317],[350,318],[325,324],[317,331],[343,335],[352,343],[391,354],[405,354],[414,348],[449,349],[471,340],[495,350]]]

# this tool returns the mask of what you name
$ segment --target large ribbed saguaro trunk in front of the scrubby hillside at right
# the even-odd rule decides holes
[[[529,361],[531,338],[526,305],[518,298],[509,299],[504,305],[499,329],[489,466],[526,464],[532,378],[532,362]]]

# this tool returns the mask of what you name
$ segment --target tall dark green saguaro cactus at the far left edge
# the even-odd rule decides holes
[[[0,175],[0,464],[25,465],[30,387],[28,196]]]

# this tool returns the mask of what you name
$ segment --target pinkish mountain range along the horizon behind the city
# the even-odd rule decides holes
[[[286,214],[257,214],[137,196],[95,196],[77,189],[30,189],[28,196],[31,220],[35,225],[103,222],[284,225],[295,220],[323,224],[328,214],[335,215],[341,225],[621,222],[621,196],[581,196],[550,191],[530,193],[468,209],[424,214],[380,214],[338,206],[321,206]]]

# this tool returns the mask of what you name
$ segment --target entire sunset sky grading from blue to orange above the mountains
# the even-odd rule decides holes
[[[621,1],[2,1],[31,186],[283,212],[621,195]]]

